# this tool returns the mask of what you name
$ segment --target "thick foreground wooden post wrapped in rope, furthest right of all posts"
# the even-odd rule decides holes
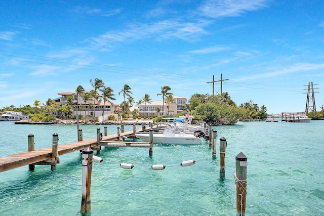
[[[235,157],[236,163],[236,216],[245,216],[247,196],[247,166],[248,158],[240,152]]]

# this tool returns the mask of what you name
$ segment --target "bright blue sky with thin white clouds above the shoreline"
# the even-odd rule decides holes
[[[220,80],[239,106],[305,111],[313,82],[324,104],[322,1],[1,1],[0,107],[45,103],[92,90],[100,78],[124,84],[135,101],[160,88],[213,94]],[[215,82],[214,93],[220,93]]]

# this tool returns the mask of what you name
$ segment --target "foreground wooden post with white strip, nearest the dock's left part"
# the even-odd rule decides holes
[[[86,148],[82,151],[82,201],[81,213],[91,209],[91,172],[93,150]]]

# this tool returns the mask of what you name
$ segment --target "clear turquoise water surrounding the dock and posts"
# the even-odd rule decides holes
[[[0,156],[27,151],[29,134],[35,148],[75,142],[76,125],[19,125],[0,122]],[[98,125],[82,125],[84,140],[96,137]],[[100,125],[103,132],[104,126]],[[108,126],[116,134],[117,126]],[[225,137],[225,180],[219,178],[219,155],[208,143],[147,148],[103,148],[94,163],[91,215],[235,215],[235,156],[248,157],[246,215],[324,215],[324,121],[310,123],[238,122],[215,126]],[[133,126],[125,126],[132,131]],[[184,160],[196,160],[182,167]],[[61,163],[0,172],[1,215],[80,215],[82,165],[78,152],[60,156]],[[119,163],[133,163],[122,169]],[[165,164],[164,170],[151,165]]]

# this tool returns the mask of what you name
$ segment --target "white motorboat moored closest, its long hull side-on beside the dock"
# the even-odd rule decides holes
[[[135,136],[143,142],[149,142],[150,139],[148,133],[136,133]],[[167,127],[163,133],[153,133],[153,143],[181,145],[200,144],[201,138],[195,137],[192,133],[186,134],[180,132],[176,134],[173,128]]]

